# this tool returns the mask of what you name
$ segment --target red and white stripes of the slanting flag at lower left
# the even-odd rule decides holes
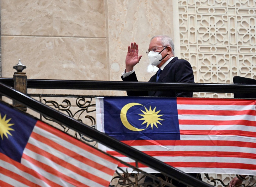
[[[38,121],[21,163],[0,155],[0,184],[109,186],[118,163],[93,147]]]

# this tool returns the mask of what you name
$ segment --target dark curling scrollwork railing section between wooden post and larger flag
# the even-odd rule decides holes
[[[40,102],[53,107],[57,111],[60,111],[92,128],[95,128],[96,126],[95,99],[92,96],[45,94],[31,94],[30,96],[39,97]],[[80,134],[79,132],[74,132],[54,119],[42,114],[40,114],[40,119],[46,120],[48,123],[51,122],[51,124],[53,124],[55,127],[71,134],[72,136],[75,136],[80,140],[90,143],[91,145],[95,146],[97,144],[96,141]]]

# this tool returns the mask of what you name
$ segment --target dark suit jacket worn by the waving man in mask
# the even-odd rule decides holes
[[[123,81],[138,81],[135,72],[127,77],[121,76]],[[152,76],[149,82],[156,82],[156,74]],[[178,59],[174,57],[167,65],[164,67],[160,74],[158,82],[194,82],[194,75],[191,65],[188,61],[183,59]],[[139,91],[127,91],[129,96],[158,96],[158,97],[192,97],[193,92],[181,92],[181,91],[149,91],[149,92],[139,92]]]

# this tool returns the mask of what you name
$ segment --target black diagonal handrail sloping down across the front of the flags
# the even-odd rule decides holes
[[[178,169],[163,163],[153,157],[150,157],[149,155],[138,151],[137,149],[130,147],[122,142],[119,142],[118,140],[99,132],[93,128],[90,128],[89,126],[86,126],[85,124],[67,116],[63,113],[56,111],[55,109],[52,109],[51,107],[44,105],[43,103],[40,103],[39,101],[28,97],[27,95],[18,92],[17,90],[14,90],[13,88],[10,88],[2,83],[0,83],[0,93],[3,95],[15,99],[27,107],[30,107],[31,109],[42,113],[46,116],[49,116],[62,124],[68,126],[69,128],[72,128],[73,130],[84,134],[101,144],[110,147],[111,149],[118,151],[122,153],[125,156],[128,156],[134,160],[137,160],[141,162],[144,165],[147,165],[163,174],[166,174],[181,183],[191,186],[191,187],[212,187],[212,185],[207,184],[201,180],[198,180],[197,178],[194,178],[190,176],[189,174],[186,174],[182,171],[179,171]]]

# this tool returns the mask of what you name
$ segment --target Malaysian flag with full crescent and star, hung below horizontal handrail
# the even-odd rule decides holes
[[[98,97],[96,113],[98,130],[186,173],[256,175],[255,100]]]

